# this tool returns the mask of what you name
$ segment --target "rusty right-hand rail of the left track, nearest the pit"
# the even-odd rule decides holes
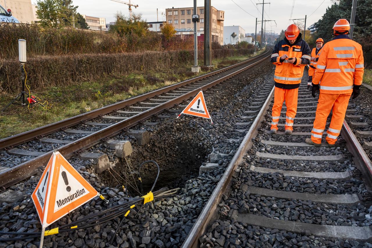
[[[267,55],[267,53],[269,53],[269,55]],[[195,90],[189,91],[165,103],[159,104],[151,109],[145,110],[144,112],[131,116],[128,119],[121,120],[120,122],[117,122],[106,128],[100,129],[97,132],[94,132],[92,134],[84,136],[83,138],[77,139],[76,141],[73,141],[69,144],[61,146],[57,149],[57,151],[61,152],[61,154],[66,158],[71,157],[74,154],[74,152],[79,151],[80,149],[89,148],[90,146],[95,145],[98,142],[100,142],[100,140],[103,138],[109,138],[113,135],[116,135],[122,132],[123,130],[126,131],[130,127],[137,125],[141,121],[146,120],[155,114],[161,113],[168,108],[174,107],[177,104],[182,103],[184,100],[189,99],[190,97],[196,96],[196,94],[201,89],[205,90],[205,89],[211,88],[221,83],[222,81],[225,81],[231,77],[234,77],[237,74],[242,73],[243,71],[247,70],[248,68],[253,67],[256,64],[259,64],[260,62],[270,57],[270,49],[268,52],[265,52],[264,55],[266,55],[266,57],[264,58],[256,57],[256,59],[258,58],[260,59],[256,62],[252,62],[250,65],[247,65],[246,67],[241,68],[238,71],[234,71],[231,74],[228,74],[222,78],[219,78],[217,80],[212,81],[211,83],[206,84],[205,86],[198,87]],[[8,170],[1,172],[0,173],[1,189],[7,188],[13,185],[15,182],[21,181],[25,178],[28,178],[32,174],[35,174],[37,168],[47,165],[49,158],[52,155],[52,152],[53,151],[49,151],[39,157],[33,158],[32,160],[16,165],[15,167],[9,168]]]

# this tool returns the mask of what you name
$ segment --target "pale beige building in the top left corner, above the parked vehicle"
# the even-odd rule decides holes
[[[19,22],[35,22],[35,13],[33,12],[31,0],[0,0],[0,5],[6,10],[12,10],[12,15]]]

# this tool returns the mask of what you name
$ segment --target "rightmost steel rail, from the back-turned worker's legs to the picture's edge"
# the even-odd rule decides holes
[[[347,124],[346,120],[344,120],[341,128],[341,136],[346,141],[347,149],[353,155],[353,161],[356,167],[362,172],[363,179],[368,182],[366,186],[371,187],[372,162],[364,151],[362,145],[360,145],[358,139],[356,138],[350,126]],[[371,190],[371,188],[369,190]]]

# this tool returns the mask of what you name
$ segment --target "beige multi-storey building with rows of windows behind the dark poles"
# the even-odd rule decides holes
[[[194,23],[192,22],[192,15],[194,14],[193,7],[189,8],[174,8],[166,9],[166,21],[173,24],[180,35],[193,35]],[[204,7],[197,7],[196,14],[199,15],[199,22],[196,23],[198,36],[202,36],[204,40]],[[217,10],[211,6],[211,39],[219,44],[224,44],[224,19],[225,12]]]

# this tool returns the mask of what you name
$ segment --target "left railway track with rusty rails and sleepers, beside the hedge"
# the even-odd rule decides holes
[[[2,155],[6,153],[17,158],[17,162],[1,168],[1,190],[30,177],[37,168],[46,165],[52,154],[52,145],[68,158],[138,123],[154,125],[145,120],[153,116],[161,119],[160,113],[178,106],[201,89],[214,87],[259,64],[270,57],[270,51],[267,49],[257,57],[230,67],[0,140],[0,149],[5,150]],[[69,135],[75,139],[66,139]]]

